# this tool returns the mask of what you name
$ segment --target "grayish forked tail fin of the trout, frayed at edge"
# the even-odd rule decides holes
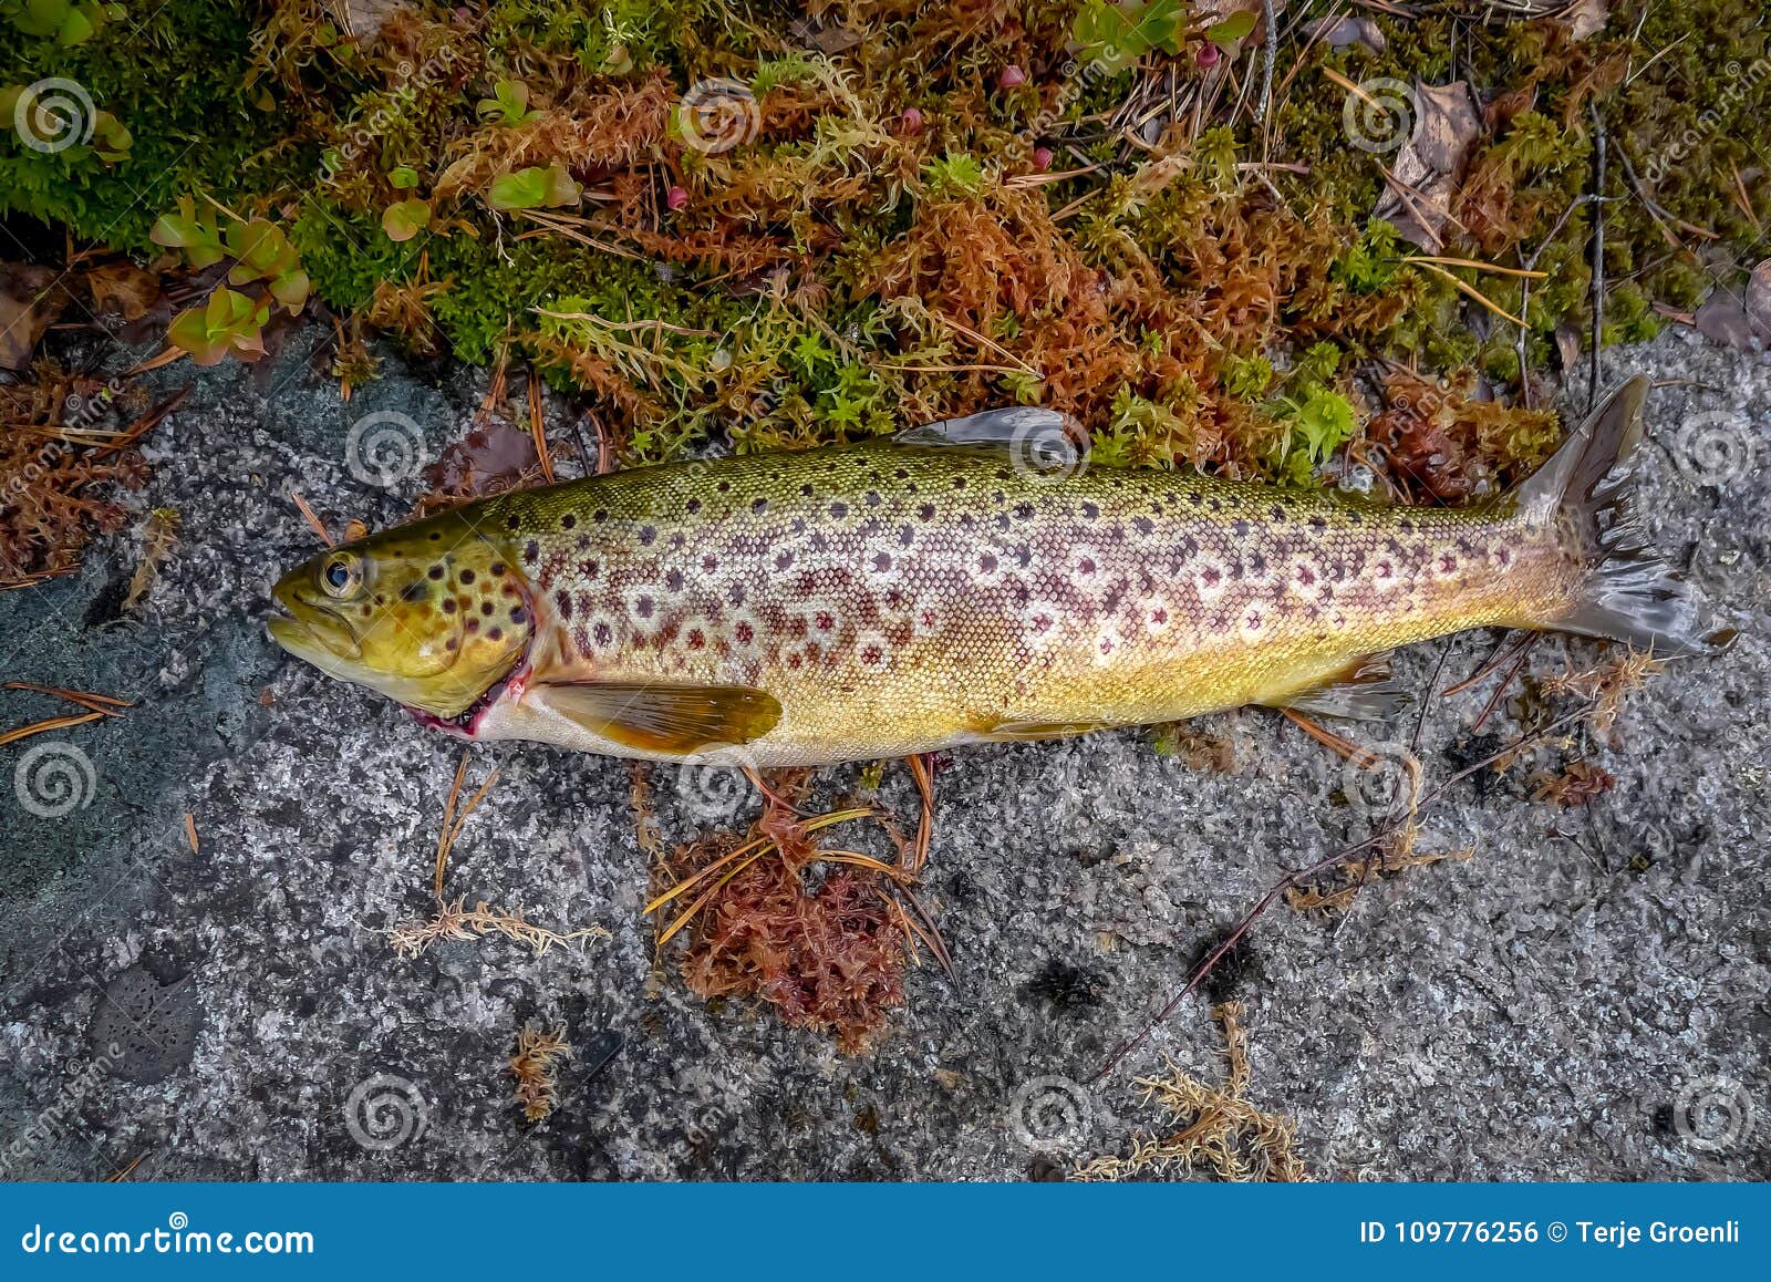
[[[1628,641],[1656,655],[1711,655],[1728,648],[1732,629],[1713,630],[1682,577],[1654,556],[1631,510],[1649,381],[1629,379],[1587,416],[1518,492],[1521,510],[1553,517],[1576,540],[1587,579],[1569,611],[1548,627]]]

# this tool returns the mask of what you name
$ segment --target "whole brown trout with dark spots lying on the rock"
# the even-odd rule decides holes
[[[1013,409],[611,473],[315,556],[271,634],[459,735],[659,760],[822,765],[1243,703],[1381,717],[1403,692],[1378,657],[1463,629],[1727,645],[1628,514],[1645,391],[1461,510],[1086,467],[1064,420]]]

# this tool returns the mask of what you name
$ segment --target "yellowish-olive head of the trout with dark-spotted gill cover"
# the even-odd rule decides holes
[[[283,650],[443,719],[494,691],[535,627],[515,561],[460,512],[328,549],[273,595]]]

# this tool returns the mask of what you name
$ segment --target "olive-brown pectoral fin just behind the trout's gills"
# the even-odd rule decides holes
[[[749,685],[540,683],[535,699],[593,735],[641,753],[747,744],[776,728],[781,703]]]

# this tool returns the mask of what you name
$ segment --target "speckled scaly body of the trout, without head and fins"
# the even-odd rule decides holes
[[[756,765],[889,758],[1272,703],[1408,641],[1555,614],[1580,563],[1520,515],[1388,510],[967,448],[653,467],[496,499],[531,685],[746,685]],[[599,742],[545,698],[483,738]]]

